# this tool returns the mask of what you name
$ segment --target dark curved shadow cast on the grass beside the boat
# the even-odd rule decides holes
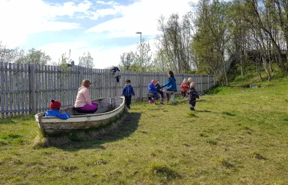
[[[139,126],[140,117],[141,112],[128,113],[128,116],[123,123],[112,132],[103,134],[95,138],[95,140],[72,142],[69,143],[69,145],[60,146],[58,148],[63,149],[64,151],[77,151],[79,149],[106,149],[106,147],[101,145],[121,140],[133,134]]]

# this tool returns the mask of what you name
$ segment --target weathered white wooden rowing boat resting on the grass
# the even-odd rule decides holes
[[[99,98],[93,99],[98,103],[98,110],[94,114],[79,114],[75,112],[74,106],[64,108],[61,112],[69,112],[71,118],[63,120],[55,116],[45,117],[45,112],[35,115],[43,136],[57,136],[69,134],[75,130],[93,130],[100,126],[105,127],[116,122],[125,114],[125,98]]]

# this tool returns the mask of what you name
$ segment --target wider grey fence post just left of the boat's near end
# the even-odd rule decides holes
[[[36,113],[36,87],[35,87],[35,66],[33,64],[29,64],[29,88],[30,88],[30,114]]]

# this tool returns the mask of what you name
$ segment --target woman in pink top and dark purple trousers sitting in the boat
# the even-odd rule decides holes
[[[75,110],[80,113],[94,113],[98,109],[97,102],[91,102],[91,94],[89,88],[91,82],[88,79],[84,79],[81,87],[78,89],[76,101],[75,101]]]

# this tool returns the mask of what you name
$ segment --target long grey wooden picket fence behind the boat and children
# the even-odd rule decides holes
[[[152,79],[160,84],[167,81],[167,73],[120,72],[121,79],[108,69],[86,69],[80,66],[40,66],[32,64],[10,64],[0,62],[0,113],[1,118],[21,114],[35,114],[49,108],[51,99],[58,99],[62,107],[72,106],[77,89],[83,79],[90,79],[91,97],[120,96],[125,79],[131,80],[136,99],[147,98],[147,86]],[[196,90],[202,91],[214,85],[211,75],[175,74],[176,83],[192,77]]]

